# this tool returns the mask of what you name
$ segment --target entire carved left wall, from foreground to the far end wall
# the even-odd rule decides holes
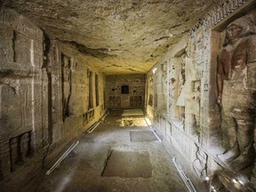
[[[76,47],[0,12],[0,180],[13,191],[106,112],[105,76]],[[12,184],[18,177],[20,183]],[[13,180],[9,180],[12,178]]]

